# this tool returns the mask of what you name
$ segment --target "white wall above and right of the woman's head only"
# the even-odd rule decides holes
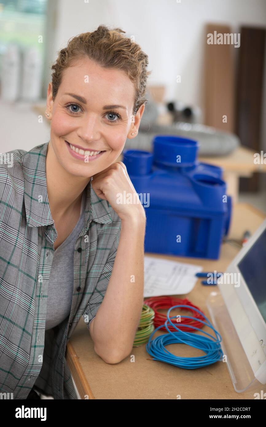
[[[86,0],[85,0],[86,1]],[[202,106],[204,25],[266,26],[266,0],[58,0],[56,50],[101,23],[134,35],[149,56],[149,82],[167,85],[167,99]],[[179,1],[179,0],[178,0]],[[237,49],[235,49],[237,50]],[[176,75],[181,83],[176,83]]]

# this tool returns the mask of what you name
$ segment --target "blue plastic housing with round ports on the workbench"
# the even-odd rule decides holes
[[[158,135],[153,153],[123,152],[146,211],[145,252],[218,259],[228,234],[231,197],[222,168],[197,160],[199,143]]]

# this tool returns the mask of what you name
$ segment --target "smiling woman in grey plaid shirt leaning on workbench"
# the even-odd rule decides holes
[[[123,32],[70,39],[47,90],[49,143],[1,165],[0,391],[14,399],[77,398],[65,351],[81,316],[106,363],[132,351],[146,215],[117,202],[136,192],[116,160],[137,135],[150,72]]]

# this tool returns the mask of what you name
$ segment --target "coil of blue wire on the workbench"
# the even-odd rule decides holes
[[[169,313],[174,308],[188,308],[191,310],[191,307],[188,305],[174,305],[173,307],[170,307],[170,309],[167,311],[167,320],[164,322],[164,325],[158,326],[156,328],[151,336],[149,337],[149,341],[146,344],[146,351],[153,356],[153,360],[160,360],[161,362],[170,363],[170,365],[178,366],[178,368],[183,369],[196,369],[201,368],[202,366],[208,366],[212,363],[216,363],[218,361],[222,360],[222,348],[220,346],[220,342],[222,341],[221,335],[219,332],[216,331],[216,329],[213,328],[210,321],[207,319],[207,317],[204,316],[204,314],[197,310],[196,308],[193,308],[193,310],[196,310],[199,314],[201,314],[208,323],[203,322],[203,320],[196,319],[191,316],[181,316],[186,319],[193,319],[197,322],[202,322],[204,325],[209,326],[211,328],[215,335],[216,339],[212,335],[210,335],[208,332],[205,332],[202,329],[196,328],[197,330],[205,333],[205,335],[210,336],[208,338],[204,335],[196,335],[193,332],[184,332],[180,330],[177,326],[177,324],[173,324],[171,322],[171,319],[175,318],[176,316],[169,317]],[[175,329],[178,330],[178,332],[172,332],[169,330],[168,325],[172,325]],[[152,336],[156,332],[156,330],[166,327],[169,333],[165,333],[164,335],[157,336],[155,339],[152,340]],[[186,326],[187,328],[190,328],[190,325],[182,325],[183,328]],[[199,350],[202,350],[205,352],[205,356],[201,357],[178,357],[174,354],[170,353],[165,346],[169,344],[178,344],[183,343],[190,345],[191,347],[199,348]]]

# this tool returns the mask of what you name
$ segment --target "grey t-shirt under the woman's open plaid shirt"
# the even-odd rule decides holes
[[[74,249],[84,227],[86,192],[83,191],[80,217],[70,235],[55,250],[50,272],[45,330],[59,325],[69,316],[74,284]]]

